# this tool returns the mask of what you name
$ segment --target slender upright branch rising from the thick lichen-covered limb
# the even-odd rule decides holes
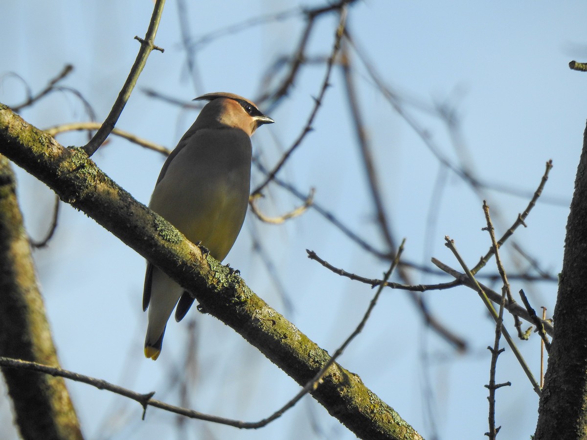
[[[100,148],[100,145],[106,140],[110,132],[112,132],[116,122],[118,121],[124,106],[126,106],[126,102],[130,98],[130,94],[133,92],[134,85],[137,83],[139,79],[139,75],[143,71],[143,67],[147,63],[147,57],[154,49],[160,50],[163,52],[163,49],[158,48],[153,44],[155,39],[155,35],[157,34],[157,28],[159,27],[159,21],[161,19],[161,14],[163,13],[163,6],[165,5],[165,0],[156,0],[155,6],[153,9],[153,15],[151,15],[151,22],[149,23],[149,29],[147,29],[147,33],[144,39],[139,37],[135,37],[136,40],[139,40],[141,43],[141,48],[139,49],[139,54],[137,55],[136,60],[134,60],[134,65],[130,69],[129,76],[120,90],[120,93],[114,102],[114,106],[112,110],[110,110],[110,114],[104,120],[104,123],[100,127],[100,129],[96,132],[92,140],[89,141],[83,147],[84,151],[86,151],[87,155],[91,156],[92,154],[96,153],[96,150]]]

